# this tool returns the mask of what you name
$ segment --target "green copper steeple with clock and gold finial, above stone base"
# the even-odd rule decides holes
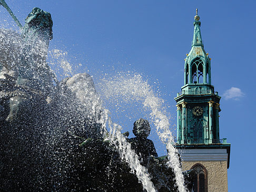
[[[174,98],[177,102],[178,143],[219,143],[220,96],[211,85],[211,59],[205,52],[201,22],[197,10],[194,17],[192,47],[186,54],[184,86]]]

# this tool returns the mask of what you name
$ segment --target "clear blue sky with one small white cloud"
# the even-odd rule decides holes
[[[67,52],[76,72],[93,75],[95,84],[108,74],[136,72],[161,92],[171,127],[176,122],[174,97],[183,85],[185,54],[193,35],[195,8],[201,17],[204,48],[211,60],[212,85],[222,96],[220,137],[231,143],[229,191],[252,191],[256,171],[255,31],[254,1],[50,1],[6,0],[19,21],[33,7],[50,12],[53,41],[50,50]],[[17,29],[3,7],[1,27]],[[157,82],[156,84],[154,82]],[[126,106],[131,113],[133,106]],[[121,113],[113,119],[131,132],[132,123]],[[141,114],[143,116],[143,114]],[[159,155],[163,146],[153,134]],[[126,131],[126,128],[124,127]],[[250,137],[249,137],[250,136]]]

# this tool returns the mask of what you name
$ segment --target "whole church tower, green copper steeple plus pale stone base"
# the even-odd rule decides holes
[[[184,86],[177,94],[177,140],[184,170],[194,168],[194,192],[228,191],[230,144],[220,139],[218,92],[211,84],[211,58],[205,52],[196,9],[192,47],[186,54]]]

